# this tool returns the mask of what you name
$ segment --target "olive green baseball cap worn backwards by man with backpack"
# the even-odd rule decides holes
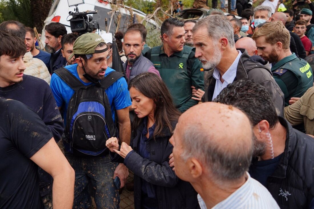
[[[90,59],[95,53],[106,52],[108,47],[102,50],[95,50],[100,43],[106,42],[96,33],[85,33],[81,35],[73,44],[73,53],[69,56],[69,60],[74,56],[74,54],[85,54],[87,59]]]

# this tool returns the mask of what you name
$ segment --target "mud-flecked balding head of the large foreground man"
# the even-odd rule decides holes
[[[176,174],[181,179],[191,180],[189,169],[184,167],[196,159],[206,170],[203,174],[220,182],[234,181],[251,163],[252,127],[241,110],[206,102],[180,116],[171,143]]]

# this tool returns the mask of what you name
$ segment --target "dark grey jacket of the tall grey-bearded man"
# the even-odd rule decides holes
[[[273,79],[269,63],[259,56],[254,55],[250,57],[245,49],[239,48],[237,50],[240,50],[242,55],[237,66],[234,81],[249,79],[264,86],[273,100],[277,114],[282,116],[284,113],[284,93],[282,93],[280,87]],[[211,69],[204,74],[205,94],[202,100],[206,102],[212,101],[214,94],[216,79],[214,79],[213,73],[214,69]]]

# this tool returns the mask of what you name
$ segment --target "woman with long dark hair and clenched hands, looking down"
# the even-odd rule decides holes
[[[119,150],[117,138],[112,137],[106,145],[118,154],[113,161],[124,158],[134,173],[135,209],[198,208],[196,191],[168,163],[173,148],[169,139],[180,113],[165,83],[156,74],[142,73],[131,80],[129,90],[137,115],[131,144],[122,143]]]

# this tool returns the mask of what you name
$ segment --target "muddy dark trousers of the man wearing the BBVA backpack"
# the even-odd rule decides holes
[[[112,178],[117,163],[111,162],[110,155],[77,157],[66,152],[65,156],[75,171],[73,208],[89,208],[91,196],[95,196],[97,209],[119,208],[119,192]],[[89,183],[94,194],[89,193]]]

